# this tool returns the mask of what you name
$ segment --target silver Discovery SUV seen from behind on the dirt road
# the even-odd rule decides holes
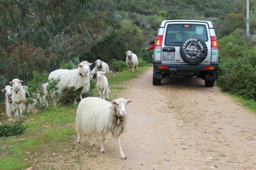
[[[152,44],[152,42],[151,42]],[[213,87],[218,63],[218,45],[213,24],[203,20],[164,20],[155,42],[153,85],[166,76],[194,76]]]

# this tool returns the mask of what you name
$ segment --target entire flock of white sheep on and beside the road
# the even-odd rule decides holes
[[[117,138],[117,144],[120,148],[120,154],[122,159],[126,159],[123,153],[120,141],[120,134],[125,130],[127,123],[127,109],[126,105],[133,102],[133,100],[125,100],[124,98],[115,99],[112,102],[105,100],[105,92],[107,93],[107,99],[109,98],[108,92],[108,81],[105,75],[110,73],[109,66],[107,63],[101,60],[96,60],[94,62],[96,66],[94,69],[90,70],[90,65],[88,61],[82,61],[78,64],[77,69],[67,70],[59,69],[50,73],[48,79],[59,78],[58,83],[58,94],[62,95],[70,87],[75,87],[75,89],[81,88],[82,92],[80,94],[80,103],[76,111],[75,118],[75,128],[78,133],[77,142],[80,143],[81,132],[88,135],[90,146],[94,146],[91,135],[100,134],[102,136],[101,153],[104,153],[104,141],[107,132],[111,132],[113,137]],[[138,58],[136,54],[132,51],[126,52],[126,64],[128,70],[130,66],[138,70]],[[97,77],[97,88],[99,91],[99,97],[86,97],[82,99],[82,94],[89,91],[90,88],[90,78]],[[29,112],[30,102],[29,102],[29,92],[27,86],[22,86],[23,81],[19,79],[13,79],[10,85],[6,85],[3,92],[5,92],[6,98],[6,113],[8,117],[20,116],[23,114],[23,110]],[[56,93],[48,93],[46,87],[48,82],[42,85],[43,87],[43,102],[46,105],[49,104],[50,99],[53,104],[56,105],[58,96]],[[101,95],[102,91],[102,95]],[[103,99],[101,97],[103,96]],[[77,103],[77,98],[74,99],[74,103]]]

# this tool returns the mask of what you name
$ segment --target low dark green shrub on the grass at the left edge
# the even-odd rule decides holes
[[[5,123],[0,125],[0,137],[4,136],[14,136],[17,134],[24,133],[25,129],[28,127],[27,125],[22,124],[21,119],[14,120],[10,124]]]

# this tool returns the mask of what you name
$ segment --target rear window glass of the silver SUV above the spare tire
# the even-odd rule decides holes
[[[200,24],[169,24],[165,36],[165,46],[180,46],[189,37],[198,37],[208,41],[205,25]]]

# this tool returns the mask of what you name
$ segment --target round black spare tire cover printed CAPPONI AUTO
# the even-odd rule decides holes
[[[189,64],[201,63],[207,57],[206,43],[196,37],[186,39],[181,44],[180,54],[183,61]]]

